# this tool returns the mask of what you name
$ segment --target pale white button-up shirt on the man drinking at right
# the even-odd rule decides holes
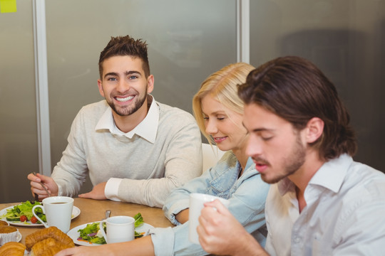
[[[327,161],[304,191],[299,213],[294,183],[270,186],[266,201],[270,255],[384,255],[385,175],[343,154]]]

